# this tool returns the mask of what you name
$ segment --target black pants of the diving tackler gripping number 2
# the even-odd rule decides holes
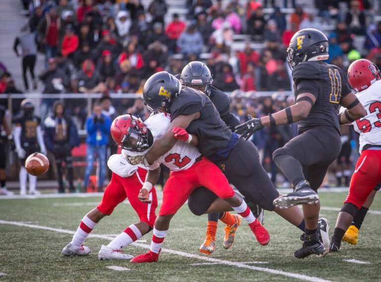
[[[279,196],[279,192],[260,164],[258,151],[252,142],[238,140],[229,157],[215,164],[248,201],[263,209],[274,210],[272,201]],[[201,215],[216,198],[217,195],[208,189],[197,188],[191,193],[188,206],[192,213]]]

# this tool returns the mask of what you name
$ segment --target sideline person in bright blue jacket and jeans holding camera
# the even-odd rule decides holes
[[[110,135],[111,119],[102,113],[100,103],[95,103],[93,113],[86,120],[86,162],[87,167],[84,176],[84,185],[86,189],[89,177],[93,169],[95,156],[98,159],[98,178],[97,188],[102,191],[103,181],[106,175],[106,146]]]

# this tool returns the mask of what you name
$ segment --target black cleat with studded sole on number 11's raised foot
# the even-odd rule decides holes
[[[289,208],[298,204],[315,204],[319,202],[319,196],[316,191],[311,189],[308,181],[301,181],[295,187],[294,192],[277,197],[273,204],[279,208]]]

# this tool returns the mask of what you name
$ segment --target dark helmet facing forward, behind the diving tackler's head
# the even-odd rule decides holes
[[[194,61],[186,65],[181,72],[180,82],[184,86],[194,88],[193,86],[203,86],[202,89],[196,88],[202,91],[205,95],[210,95],[210,87],[213,82],[210,70],[205,64]]]

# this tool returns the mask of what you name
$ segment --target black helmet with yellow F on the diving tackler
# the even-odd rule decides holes
[[[180,81],[167,72],[152,75],[144,84],[143,98],[150,111],[168,112],[181,90]]]

